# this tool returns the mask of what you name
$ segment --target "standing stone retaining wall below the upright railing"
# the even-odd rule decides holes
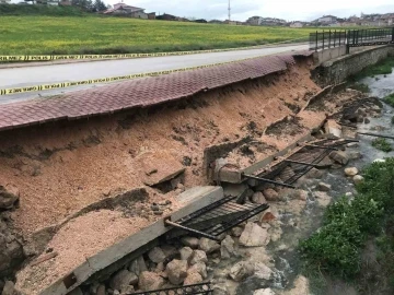
[[[394,46],[374,47],[323,62],[312,74],[321,86],[339,84],[348,76],[360,72],[368,66],[378,63],[387,56],[394,56]]]

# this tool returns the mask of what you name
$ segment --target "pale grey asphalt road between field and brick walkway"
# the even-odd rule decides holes
[[[71,82],[89,79],[108,78],[134,73],[154,72],[162,70],[175,70],[186,67],[196,67],[209,63],[225,62],[252,58],[258,56],[268,56],[281,54],[291,50],[304,50],[308,45],[286,45],[278,47],[264,47],[259,49],[235,50],[227,52],[198,54],[190,56],[173,57],[153,57],[141,59],[121,59],[104,60],[79,63],[65,63],[24,68],[0,69],[0,88],[14,88],[24,86],[34,86],[42,84],[51,84],[58,82]],[[68,88],[50,90],[39,92],[39,95],[56,95],[66,92],[72,92],[82,88],[97,87],[105,84],[74,86]],[[37,97],[37,92],[22,93],[0,96],[1,103],[10,103]]]

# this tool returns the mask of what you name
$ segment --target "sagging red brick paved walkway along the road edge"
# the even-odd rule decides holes
[[[200,70],[130,80],[65,95],[4,104],[0,105],[0,130],[62,119],[88,118],[181,99],[205,90],[285,71],[296,62],[293,56],[310,55],[310,51],[301,51],[260,57]]]

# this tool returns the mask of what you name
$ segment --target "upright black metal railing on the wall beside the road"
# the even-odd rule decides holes
[[[334,47],[373,46],[394,44],[394,27],[347,31],[323,31],[310,34],[310,50],[318,51]]]

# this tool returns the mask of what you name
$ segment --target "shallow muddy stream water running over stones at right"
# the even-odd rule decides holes
[[[394,73],[390,75],[380,75],[375,78],[367,78],[361,81],[369,85],[371,96],[383,98],[384,96],[394,93]],[[357,130],[359,132],[371,132],[386,135],[394,135],[394,126],[391,123],[394,116],[394,109],[384,104],[382,116],[379,118],[369,118],[370,123],[359,123]],[[362,167],[372,163],[376,158],[384,158],[394,156],[394,152],[384,153],[374,149],[371,143],[375,138],[367,135],[358,135],[359,144],[352,148],[347,148],[348,153],[360,152],[361,158],[350,161],[348,167],[357,167],[362,170]],[[387,140],[394,146],[394,140]],[[332,185],[332,190],[328,192],[328,200],[324,200],[316,191],[316,185],[320,182]],[[276,294],[283,295],[357,295],[356,288],[345,284],[344,282],[326,280],[322,285],[314,285],[311,283],[309,292],[302,291],[297,284],[297,278],[301,274],[300,255],[297,251],[299,240],[305,239],[311,233],[315,232],[322,222],[325,208],[328,202],[335,201],[341,196],[351,192],[355,193],[355,186],[350,178],[344,174],[344,167],[338,169],[329,169],[325,173],[322,179],[308,179],[301,184],[301,189],[309,192],[306,202],[302,204],[303,209],[297,212],[297,206],[300,205],[291,197],[285,197],[285,201],[278,204],[273,204],[278,209],[280,229],[282,232],[279,239],[271,241],[266,248],[254,249],[247,252],[247,257],[254,261],[262,261],[268,263],[275,271],[275,279],[270,282],[259,281],[256,278],[246,279],[240,284],[230,283],[231,294],[250,295],[257,288],[271,287]],[[241,250],[242,251],[242,250]],[[263,255],[264,253],[264,255]],[[263,258],[265,257],[265,258]],[[267,259],[267,257],[269,259]],[[245,260],[245,257],[241,258]],[[218,268],[229,269],[230,263],[220,263]]]

